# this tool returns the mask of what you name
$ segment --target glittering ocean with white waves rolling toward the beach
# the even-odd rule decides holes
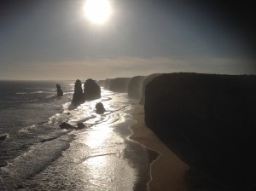
[[[148,149],[129,138],[137,101],[102,88],[100,99],[71,108],[73,89],[74,81],[0,81],[0,190],[147,190]],[[62,130],[63,122],[86,127]]]

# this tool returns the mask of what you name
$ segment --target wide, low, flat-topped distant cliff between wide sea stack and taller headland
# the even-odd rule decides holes
[[[128,91],[128,84],[131,78],[113,78],[110,80],[109,90],[125,93]]]

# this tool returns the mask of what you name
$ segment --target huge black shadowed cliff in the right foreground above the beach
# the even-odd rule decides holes
[[[146,86],[145,122],[188,165],[243,185],[255,178],[255,106],[256,76],[163,74]]]

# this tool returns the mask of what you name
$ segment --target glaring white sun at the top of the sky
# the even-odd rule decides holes
[[[102,25],[112,13],[108,0],[87,0],[84,4],[84,15],[91,23]]]

